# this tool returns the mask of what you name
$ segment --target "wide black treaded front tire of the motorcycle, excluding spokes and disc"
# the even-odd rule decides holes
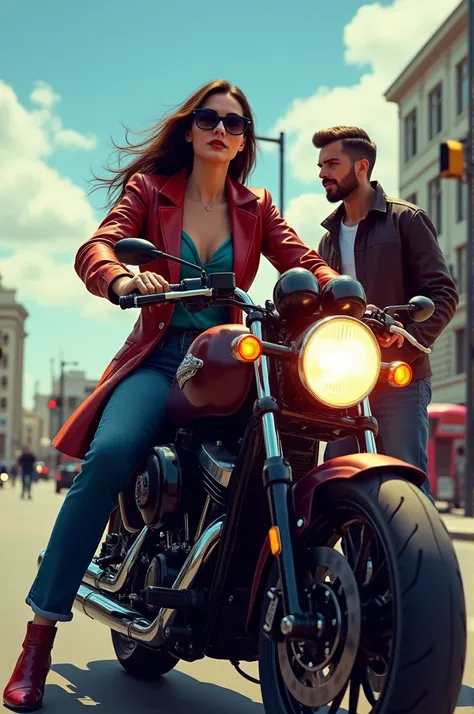
[[[462,685],[466,612],[456,554],[435,506],[411,483],[390,475],[366,481],[333,481],[316,493],[314,521],[304,535],[305,541],[311,547],[327,545],[331,524],[334,527],[336,522],[350,522],[337,521],[344,517],[339,514],[346,513],[357,514],[376,533],[385,553],[385,560],[379,562],[387,563],[390,581],[390,655],[382,691],[378,699],[374,697],[371,714],[452,714]],[[377,553],[381,557],[382,551]],[[372,564],[370,577],[374,570]],[[277,582],[274,567],[265,593]],[[358,584],[361,603],[367,582],[370,585],[370,580],[362,587]],[[263,634],[267,611],[265,598],[259,646],[265,711],[310,714],[310,708],[289,694],[281,673],[278,645]],[[363,637],[364,623],[361,643]],[[369,676],[369,680],[373,681],[373,677]],[[372,694],[376,692],[372,685]],[[342,702],[339,706],[343,706]],[[342,714],[347,710],[332,711]],[[352,714],[355,710],[349,711]]]

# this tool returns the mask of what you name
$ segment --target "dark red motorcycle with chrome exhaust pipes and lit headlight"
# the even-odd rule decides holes
[[[130,265],[183,262],[138,238],[115,252]],[[381,362],[377,336],[429,353],[396,321],[424,321],[433,303],[368,310],[356,280],[321,289],[302,268],[264,307],[233,273],[202,270],[119,303],[180,300],[239,307],[246,325],[191,345],[167,443],[120,495],[75,607],[111,629],[137,678],[211,657],[259,684],[267,714],[356,714],[363,698],[373,714],[454,712],[466,651],[456,555],[424,473],[377,454],[369,403],[378,382],[412,376]],[[359,452],[318,466],[319,443],[349,435]],[[242,662],[258,662],[258,679]]]

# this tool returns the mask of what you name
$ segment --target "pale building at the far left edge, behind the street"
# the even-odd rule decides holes
[[[16,459],[22,447],[24,325],[28,313],[0,277],[0,459]]]

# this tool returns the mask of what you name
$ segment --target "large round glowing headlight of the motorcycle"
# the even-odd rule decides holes
[[[346,409],[370,394],[380,364],[379,343],[366,325],[353,317],[329,317],[304,336],[298,371],[319,402]]]

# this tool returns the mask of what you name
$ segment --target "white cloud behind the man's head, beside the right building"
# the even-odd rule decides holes
[[[398,113],[383,95],[457,5],[458,0],[395,0],[389,6],[372,3],[359,8],[344,28],[344,42],[346,63],[366,68],[360,81],[352,86],[321,86],[312,96],[295,99],[270,130],[289,135],[288,158],[296,178],[317,181],[317,151],[311,143],[317,129],[356,124],[377,143],[374,178],[388,193],[397,192]],[[297,222],[306,226],[313,219],[319,224],[334,208],[318,201],[316,217],[309,195],[297,197],[288,206],[287,216],[295,226]]]

